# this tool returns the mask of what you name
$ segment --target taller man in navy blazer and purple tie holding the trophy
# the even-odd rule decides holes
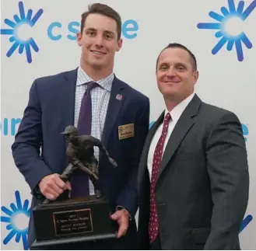
[[[119,225],[117,239],[59,248],[135,249],[136,178],[149,128],[149,99],[114,75],[114,55],[122,46],[121,17],[114,9],[98,3],[82,13],[77,43],[82,49],[79,68],[33,82],[12,145],[13,158],[30,186],[32,208],[68,190],[71,197],[85,196],[94,193],[88,176],[79,173],[71,183],[59,177],[68,165],[61,132],[74,124],[79,134],[98,138],[118,165],[113,168],[95,148],[101,191],[110,201],[110,217]],[[121,135],[121,126],[128,136]],[[29,246],[34,239],[31,217]]]

